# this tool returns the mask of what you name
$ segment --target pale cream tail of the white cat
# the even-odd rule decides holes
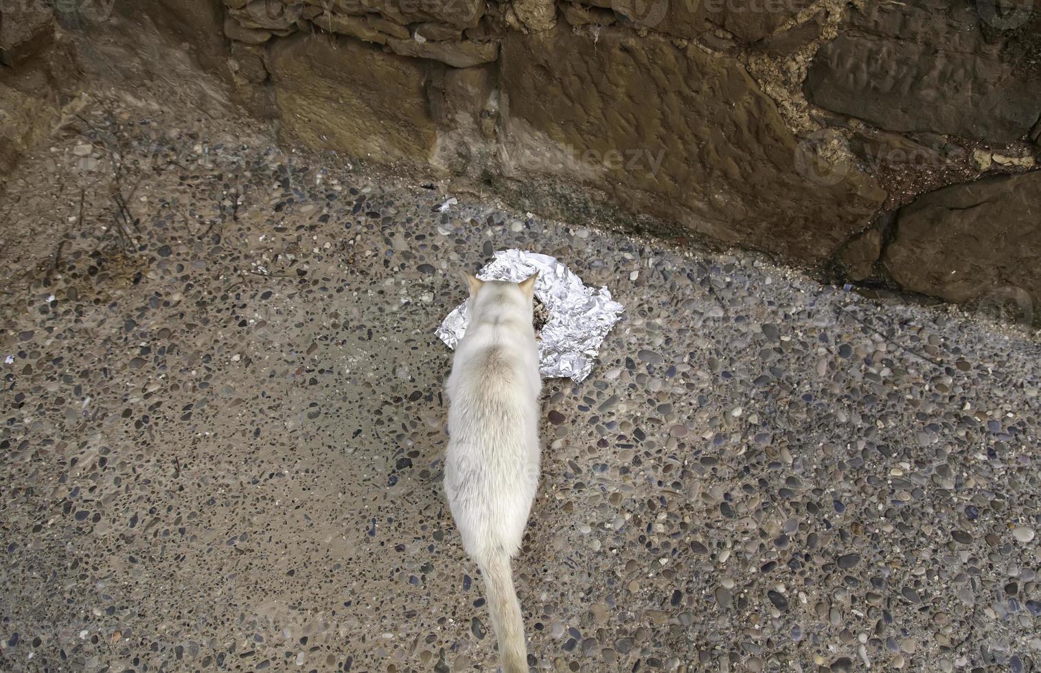
[[[478,560],[488,594],[491,625],[499,639],[499,658],[503,673],[528,673],[528,647],[524,640],[524,616],[513,588],[510,557],[500,550]]]

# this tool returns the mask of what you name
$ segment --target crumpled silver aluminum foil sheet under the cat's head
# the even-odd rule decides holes
[[[624,308],[607,288],[594,290],[550,255],[524,250],[501,250],[477,277],[520,282],[538,271],[535,296],[550,318],[540,332],[539,373],[547,378],[581,381],[592,370],[592,358]],[[455,348],[466,331],[466,302],[459,304],[437,328],[437,335]]]

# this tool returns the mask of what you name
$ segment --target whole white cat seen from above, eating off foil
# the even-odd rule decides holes
[[[535,279],[469,280],[466,332],[448,380],[445,493],[466,553],[484,576],[504,673],[527,673],[524,617],[510,558],[538,488]]]

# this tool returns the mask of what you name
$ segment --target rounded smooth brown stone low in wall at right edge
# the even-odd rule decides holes
[[[883,260],[905,288],[955,302],[1018,289],[1041,306],[1041,172],[931,192],[900,208]]]

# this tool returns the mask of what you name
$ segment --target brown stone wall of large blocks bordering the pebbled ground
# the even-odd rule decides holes
[[[1041,253],[1033,4],[142,0],[123,11],[189,44],[286,143],[1029,320],[1041,306],[1027,263]]]

